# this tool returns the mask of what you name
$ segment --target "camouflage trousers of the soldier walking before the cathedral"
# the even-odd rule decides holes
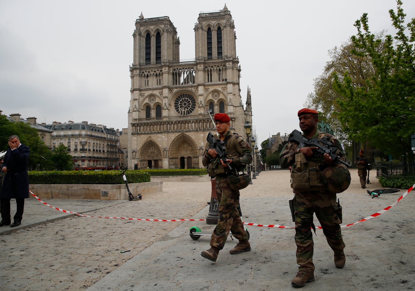
[[[237,240],[247,240],[248,235],[244,230],[241,216],[237,210],[239,204],[239,191],[229,188],[226,177],[216,177],[216,195],[219,203],[219,220],[210,237],[210,245],[223,249],[229,231]]]

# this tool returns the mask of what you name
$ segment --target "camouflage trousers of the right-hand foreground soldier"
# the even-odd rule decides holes
[[[336,194],[319,191],[298,191],[294,189],[295,243],[297,244],[298,270],[314,271],[312,262],[314,242],[312,240],[313,214],[315,213],[327,243],[334,252],[346,246],[342,237],[342,208],[336,201]]]

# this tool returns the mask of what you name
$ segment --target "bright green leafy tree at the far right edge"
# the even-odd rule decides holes
[[[349,139],[367,140],[395,157],[410,151],[410,134],[415,128],[415,19],[405,28],[401,5],[397,0],[397,12],[389,10],[397,33],[386,35],[384,42],[370,32],[366,13],[354,24],[358,33],[351,38],[356,46],[352,53],[371,59],[374,76],[364,85],[354,86],[349,73],[343,78],[333,73],[334,90],[341,96],[337,116]]]

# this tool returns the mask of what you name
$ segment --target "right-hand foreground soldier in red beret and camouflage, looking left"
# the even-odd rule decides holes
[[[335,154],[344,159],[342,144],[331,134],[317,130],[318,112],[308,108],[298,111],[300,129],[305,137],[321,139],[328,136],[330,142],[337,147]],[[313,215],[322,226],[329,246],[334,251],[334,264],[343,268],[346,257],[343,249],[340,224],[342,223],[342,207],[336,201],[336,193],[331,192],[322,182],[321,176],[329,166],[334,166],[326,153],[316,157],[313,150],[317,147],[298,148],[295,142],[288,142],[280,154],[280,165],[291,166],[291,187],[293,188],[293,210],[295,215],[295,243],[298,273],[291,281],[295,287],[303,287],[307,282],[314,281],[313,240],[311,228],[315,230]]]

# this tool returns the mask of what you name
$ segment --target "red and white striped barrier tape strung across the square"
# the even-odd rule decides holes
[[[354,225],[356,223],[361,223],[361,222],[364,222],[364,221],[369,220],[371,218],[375,218],[375,217],[381,215],[382,213],[385,213],[387,210],[391,209],[392,206],[394,206],[396,203],[398,203],[402,198],[404,198],[410,191],[412,191],[414,187],[415,187],[415,184],[413,184],[413,186],[411,186],[405,192],[405,194],[403,194],[402,196],[400,196],[398,198],[398,200],[395,203],[393,203],[392,205],[389,205],[388,207],[383,208],[379,212],[376,212],[376,213],[374,213],[372,215],[369,215],[366,218],[363,218],[363,219],[361,219],[359,221],[356,221],[354,223],[349,223],[347,225],[342,225],[341,227],[347,227],[347,226],[350,226],[350,225]],[[49,205],[48,203],[41,201],[40,198],[37,197],[32,191],[29,191],[29,192],[37,200],[39,200],[41,203],[43,203],[46,206],[49,206],[49,207],[54,208],[56,210],[62,211],[64,213],[73,213],[73,214],[76,214],[76,215],[79,215],[79,216],[83,216],[83,217],[93,217],[93,218],[94,217],[95,218],[118,218],[118,219],[128,219],[128,220],[163,221],[163,222],[173,222],[173,221],[204,221],[205,220],[205,219],[148,219],[148,218],[126,218],[126,217],[110,217],[110,216],[90,216],[90,215],[83,215],[81,213],[76,213],[76,212],[73,212],[73,211],[68,211],[68,210],[64,210],[64,209],[61,209],[61,208],[53,207],[52,205]],[[295,227],[292,227],[292,226],[284,226],[284,225],[278,225],[278,224],[263,225],[263,224],[256,224],[256,223],[247,223],[247,222],[244,222],[244,224],[245,225],[251,225],[251,226],[260,226],[260,227],[295,228]],[[320,228],[321,229],[322,227],[321,226],[317,226],[316,228]]]

